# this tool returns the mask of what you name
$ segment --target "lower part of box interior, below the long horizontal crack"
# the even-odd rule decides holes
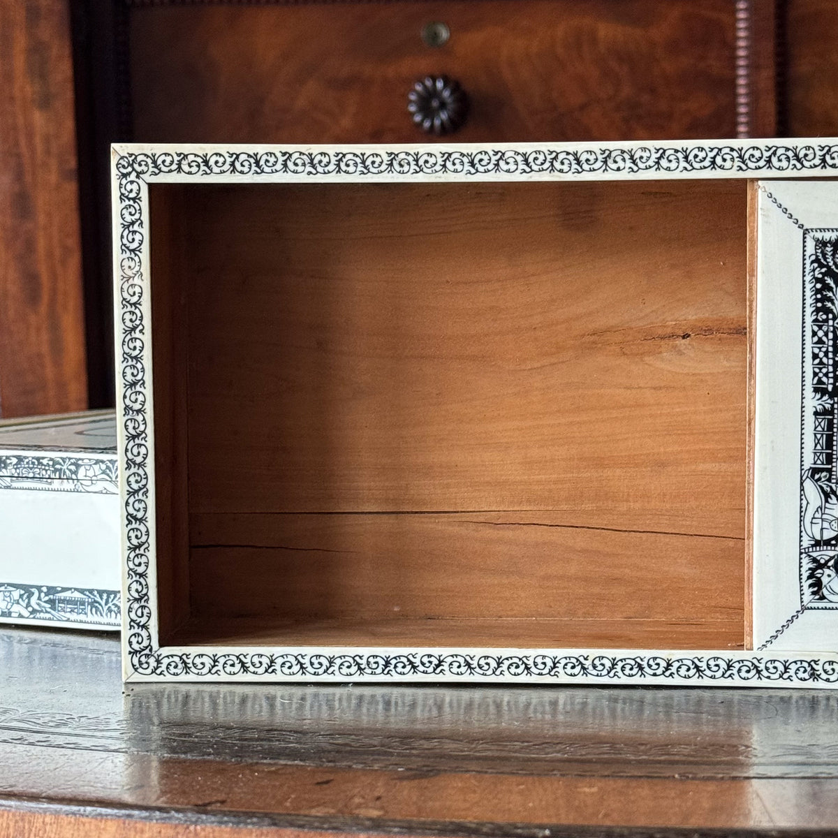
[[[194,515],[190,530],[192,642],[742,646],[739,539],[555,514]]]

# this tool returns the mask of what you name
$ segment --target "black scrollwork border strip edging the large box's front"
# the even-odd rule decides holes
[[[747,177],[828,174],[838,170],[838,144],[721,142],[611,147],[335,148],[246,147],[171,149],[121,147],[115,159],[117,349],[122,370],[122,464],[127,556],[126,634],[138,677],[608,680],[658,683],[838,682],[838,661],[748,654],[587,654],[458,650],[338,652],[168,651],[153,643],[149,590],[150,486],[147,331],[143,307],[147,277],[143,184],[251,179]]]

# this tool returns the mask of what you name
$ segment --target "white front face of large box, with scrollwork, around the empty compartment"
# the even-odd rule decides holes
[[[812,180],[838,172],[838,140],[306,148],[120,144],[112,158],[126,680],[838,683],[832,630],[838,530],[831,529],[833,505],[838,505],[832,453],[838,439],[832,427],[838,405],[835,320],[830,301],[817,296],[824,283],[834,293],[830,248],[838,241],[838,204],[831,198],[832,184]],[[758,182],[756,267],[751,270],[757,300],[753,649],[159,643],[150,184],[670,178]]]

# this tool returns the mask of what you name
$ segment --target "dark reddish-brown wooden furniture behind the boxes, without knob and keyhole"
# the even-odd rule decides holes
[[[113,401],[110,142],[422,140],[429,73],[454,141],[830,135],[836,35],[830,0],[0,0],[0,413]]]

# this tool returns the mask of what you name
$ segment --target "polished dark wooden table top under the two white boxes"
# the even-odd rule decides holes
[[[838,833],[838,693],[142,685],[0,630],[0,835]]]

